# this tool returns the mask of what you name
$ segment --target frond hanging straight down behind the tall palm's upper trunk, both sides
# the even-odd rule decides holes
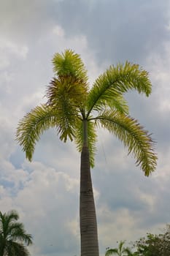
[[[77,122],[74,131],[74,140],[77,145],[77,150],[82,151],[83,145],[83,123],[82,121]],[[88,148],[90,153],[90,166],[94,167],[94,157],[96,152],[96,129],[95,124],[92,121],[88,121]]]

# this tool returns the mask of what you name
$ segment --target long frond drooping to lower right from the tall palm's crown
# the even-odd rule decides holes
[[[116,111],[106,110],[96,117],[101,126],[108,129],[123,141],[128,147],[128,154],[132,152],[136,165],[140,165],[145,176],[155,170],[157,156],[153,152],[153,141],[150,135],[134,118],[119,115]]]

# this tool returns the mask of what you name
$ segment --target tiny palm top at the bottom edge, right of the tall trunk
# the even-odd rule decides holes
[[[133,256],[133,252],[128,247],[123,247],[125,241],[120,241],[118,248],[107,249],[105,256],[117,255],[117,256]]]

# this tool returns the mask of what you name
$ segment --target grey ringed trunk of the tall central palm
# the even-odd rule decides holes
[[[98,256],[96,210],[90,176],[90,158],[87,143],[82,147],[80,169],[81,256]]]

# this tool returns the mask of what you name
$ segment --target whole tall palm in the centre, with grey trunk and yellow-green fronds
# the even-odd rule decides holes
[[[53,57],[54,78],[47,86],[47,103],[37,106],[20,120],[16,139],[31,161],[36,142],[54,127],[59,138],[74,140],[81,152],[80,235],[81,255],[98,256],[96,210],[90,167],[94,166],[96,129],[103,127],[122,140],[145,176],[155,170],[153,141],[138,121],[128,116],[123,94],[131,89],[149,96],[148,73],[137,64],[117,64],[100,75],[90,89],[85,66],[77,53],[65,50]]]

